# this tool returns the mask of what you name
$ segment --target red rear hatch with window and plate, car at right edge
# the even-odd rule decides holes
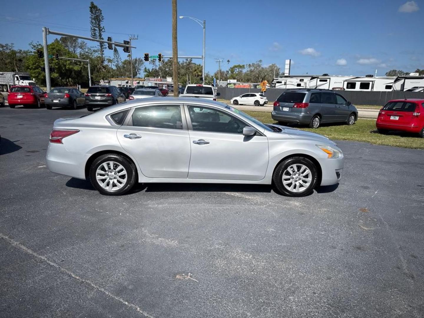
[[[391,102],[379,113],[379,122],[393,125],[411,125],[416,104],[411,102]]]

